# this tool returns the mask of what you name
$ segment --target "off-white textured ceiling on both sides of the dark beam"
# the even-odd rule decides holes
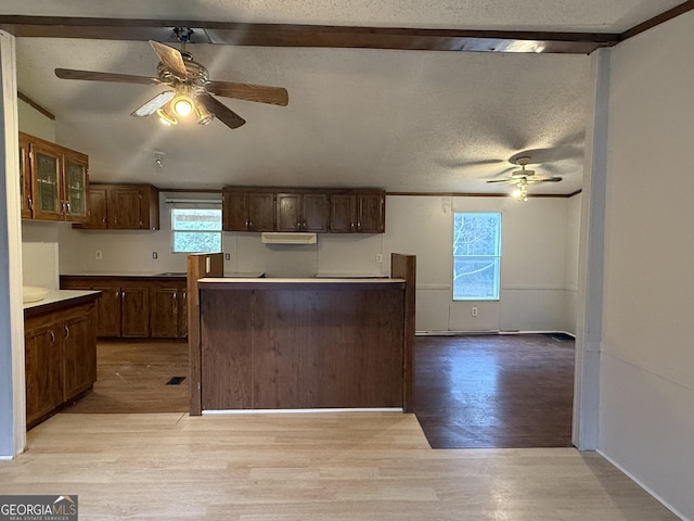
[[[94,2],[4,0],[0,14],[500,30],[622,33],[673,0]],[[507,160],[581,187],[589,56],[190,45],[213,79],[285,87],[286,107],[222,99],[231,130],[164,128],[129,114],[162,87],[59,79],[53,68],[150,76],[146,41],[17,38],[20,90],[56,116],[57,141],[90,156],[95,181],[381,187],[502,193]],[[155,153],[164,153],[157,169]],[[503,176],[502,176],[503,177]]]

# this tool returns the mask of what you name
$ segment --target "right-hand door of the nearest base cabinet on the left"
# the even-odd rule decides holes
[[[63,335],[63,401],[88,390],[97,380],[97,332],[93,305],[60,325]]]

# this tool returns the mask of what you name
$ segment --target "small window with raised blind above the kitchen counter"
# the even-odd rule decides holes
[[[221,203],[169,203],[174,253],[221,252]]]

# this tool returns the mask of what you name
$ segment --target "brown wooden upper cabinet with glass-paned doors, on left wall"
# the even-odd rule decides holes
[[[23,150],[28,154],[24,155]],[[22,217],[83,221],[88,215],[88,157],[23,134],[20,154]],[[27,179],[30,182],[25,182]]]

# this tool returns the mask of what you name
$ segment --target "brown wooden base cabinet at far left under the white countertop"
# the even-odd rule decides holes
[[[97,295],[25,310],[26,423],[30,429],[97,380]]]

